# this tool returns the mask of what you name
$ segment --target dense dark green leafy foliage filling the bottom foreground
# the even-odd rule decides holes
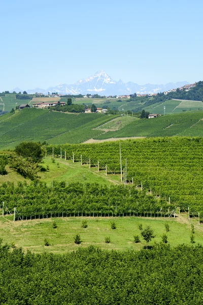
[[[2,245],[0,252],[2,304],[201,304],[201,246],[138,252],[90,246],[57,255]]]

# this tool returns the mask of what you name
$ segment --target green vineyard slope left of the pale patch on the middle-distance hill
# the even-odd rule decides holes
[[[44,109],[23,109],[0,121],[0,147],[13,148],[21,141],[80,143],[103,131],[94,130],[116,116],[67,114]]]

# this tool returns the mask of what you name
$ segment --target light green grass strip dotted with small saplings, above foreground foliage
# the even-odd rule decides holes
[[[87,228],[82,228],[82,220],[87,220]],[[57,228],[53,229],[53,221]],[[111,223],[115,221],[117,228],[111,229]],[[165,232],[164,224],[168,223],[170,231]],[[12,216],[0,217],[0,232],[4,242],[14,242],[16,246],[32,252],[55,252],[63,253],[73,251],[78,248],[94,245],[102,249],[109,250],[140,250],[146,245],[141,237],[139,225],[143,228],[152,227],[155,238],[149,243],[161,241],[161,236],[166,233],[168,243],[171,246],[177,246],[185,243],[190,244],[191,223],[195,228],[195,242],[203,245],[202,227],[197,221],[187,221],[186,216],[178,215],[176,219],[153,219],[137,217],[120,218],[100,218],[100,217],[72,217],[72,218],[52,218],[40,220],[16,221],[13,223]],[[80,234],[82,243],[76,245],[74,236]],[[133,236],[139,235],[141,242],[134,243]],[[111,238],[111,243],[105,243],[105,237]],[[44,239],[50,241],[51,246],[44,246]]]

